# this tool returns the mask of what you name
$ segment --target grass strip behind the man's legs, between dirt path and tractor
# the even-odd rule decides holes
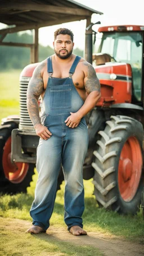
[[[34,188],[37,174],[33,176],[34,181],[28,188],[28,194],[3,195],[0,199],[0,216],[4,218],[19,218],[31,221],[29,210],[34,199]],[[55,208],[51,218],[51,225],[65,226],[64,223],[64,186],[57,191]],[[93,185],[91,180],[84,181],[85,188],[85,210],[83,214],[84,228],[88,232],[101,232],[106,235],[121,236],[125,239],[144,242],[144,222],[142,213],[137,215],[119,215],[98,208],[95,196],[93,196]]]

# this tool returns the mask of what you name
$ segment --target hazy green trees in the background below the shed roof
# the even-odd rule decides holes
[[[33,36],[28,33],[8,34],[3,42],[14,43],[33,43]],[[51,56],[54,53],[50,46],[39,44],[39,62]],[[83,51],[79,48],[74,49],[73,53],[83,57]],[[30,48],[15,46],[0,46],[0,69],[23,69],[30,64]]]

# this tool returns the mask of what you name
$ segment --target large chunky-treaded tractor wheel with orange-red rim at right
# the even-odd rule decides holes
[[[111,116],[93,152],[93,184],[99,206],[123,214],[140,208],[143,127],[128,116]]]

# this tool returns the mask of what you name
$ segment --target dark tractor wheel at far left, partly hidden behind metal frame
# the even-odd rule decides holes
[[[35,164],[11,163],[11,132],[18,128],[15,122],[0,127],[0,192],[26,192],[34,174]]]

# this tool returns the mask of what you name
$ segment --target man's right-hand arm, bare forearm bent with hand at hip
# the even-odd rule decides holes
[[[77,113],[70,113],[71,115],[65,120],[66,126],[75,128],[78,126],[82,117],[88,114],[89,111],[96,106],[97,101],[101,97],[100,82],[97,78],[96,71],[91,64],[87,61],[83,62],[84,65],[84,87],[87,92],[87,98],[83,106],[77,111]]]

